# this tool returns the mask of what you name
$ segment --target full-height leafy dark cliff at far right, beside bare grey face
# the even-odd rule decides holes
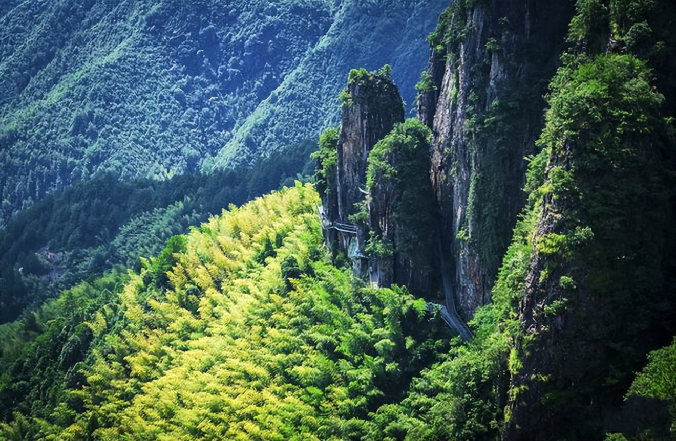
[[[637,436],[656,412],[621,398],[674,333],[673,40],[660,29],[676,9],[589,5],[571,21],[578,44],[550,83],[546,151],[532,169],[504,440]]]

